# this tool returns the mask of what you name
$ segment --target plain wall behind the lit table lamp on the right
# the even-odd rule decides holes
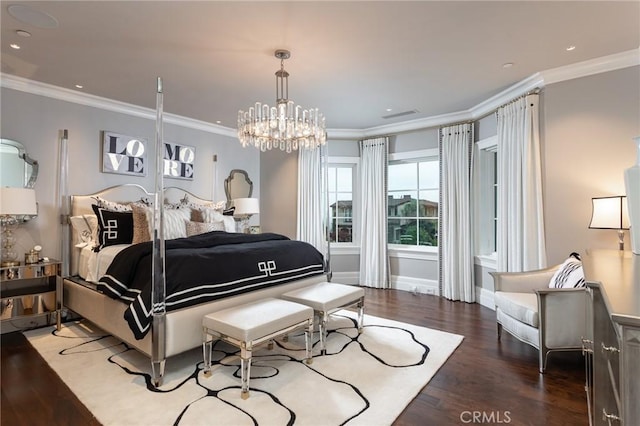
[[[616,231],[588,229],[591,198],[625,194],[623,171],[634,164],[632,138],[640,136],[640,67],[551,84],[542,112],[549,264],[572,251],[616,249]]]

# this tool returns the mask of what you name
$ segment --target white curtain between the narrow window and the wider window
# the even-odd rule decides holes
[[[388,138],[360,141],[360,285],[389,288]]]

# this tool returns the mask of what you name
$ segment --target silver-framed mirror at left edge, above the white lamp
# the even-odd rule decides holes
[[[0,139],[0,186],[33,188],[38,178],[38,162],[18,141]]]

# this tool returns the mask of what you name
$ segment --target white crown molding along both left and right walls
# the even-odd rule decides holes
[[[375,136],[393,135],[415,130],[449,125],[461,121],[477,120],[492,113],[501,105],[527,93],[535,88],[543,88],[547,84],[559,83],[575,78],[586,77],[608,71],[640,65],[640,47],[613,55],[577,62],[563,67],[537,72],[500,93],[486,99],[468,110],[448,114],[434,115],[400,123],[370,127],[367,129],[327,129],[329,139],[363,139]],[[155,110],[137,105],[127,104],[112,99],[89,95],[86,93],[29,80],[22,77],[0,73],[0,85],[9,89],[20,90],[35,95],[46,96],[80,105],[119,112],[134,117],[155,120]],[[165,113],[164,121],[191,129],[202,130],[214,134],[235,138],[236,130],[205,121],[195,120],[180,115]]]

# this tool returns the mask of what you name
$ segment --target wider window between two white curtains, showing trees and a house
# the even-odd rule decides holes
[[[389,244],[437,247],[440,183],[437,152],[419,158],[398,158],[401,156],[392,156],[389,161]]]

